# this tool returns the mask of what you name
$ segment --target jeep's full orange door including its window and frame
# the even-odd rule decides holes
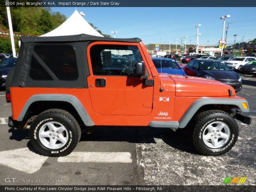
[[[153,86],[128,71],[144,61],[139,43],[94,42],[87,48],[87,77],[94,111],[101,115],[148,115],[152,111]],[[127,70],[126,70],[127,69]],[[129,70],[128,70],[129,69]]]

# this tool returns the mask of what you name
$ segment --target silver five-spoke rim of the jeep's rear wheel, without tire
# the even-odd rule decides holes
[[[39,140],[50,149],[62,148],[68,142],[68,130],[60,123],[47,122],[39,130]]]

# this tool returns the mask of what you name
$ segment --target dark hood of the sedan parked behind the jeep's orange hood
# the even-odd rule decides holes
[[[218,80],[238,80],[239,75],[234,71],[202,70],[200,76],[209,75]]]

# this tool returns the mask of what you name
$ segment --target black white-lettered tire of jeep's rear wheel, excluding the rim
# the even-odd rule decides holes
[[[45,123],[57,122],[67,129],[68,141],[58,149],[47,148],[39,138],[39,130]],[[66,156],[70,154],[81,138],[81,129],[76,119],[67,111],[62,109],[49,109],[39,114],[31,123],[30,141],[36,151],[44,156]]]

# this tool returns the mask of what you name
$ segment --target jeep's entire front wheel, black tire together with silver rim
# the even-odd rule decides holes
[[[238,138],[238,126],[233,117],[221,110],[209,110],[196,116],[193,140],[199,152],[208,156],[228,152]]]

